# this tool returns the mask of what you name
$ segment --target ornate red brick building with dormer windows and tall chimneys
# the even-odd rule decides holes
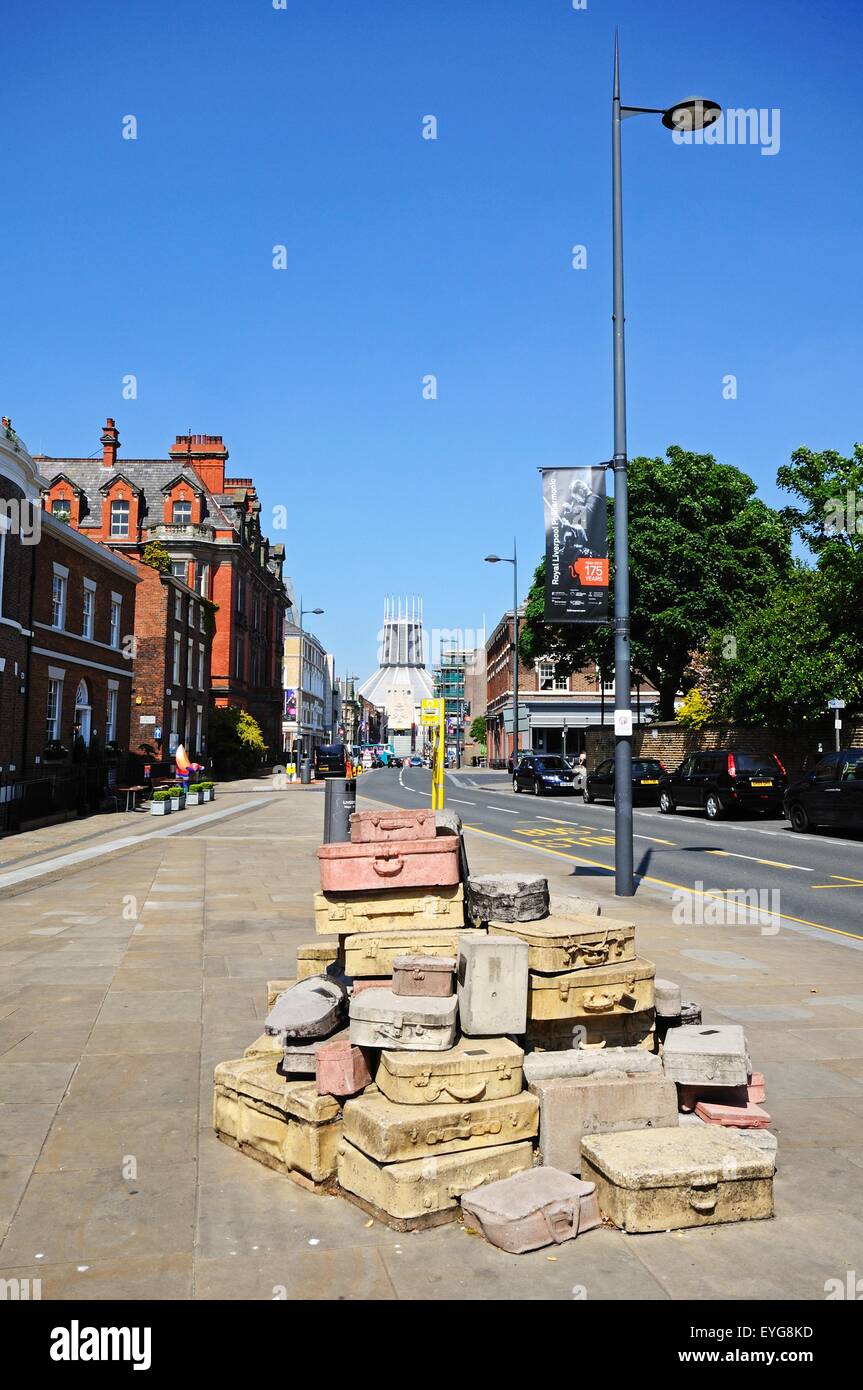
[[[261,532],[253,480],[225,477],[228,450],[221,435],[176,435],[167,459],[124,459],[117,427],[108,418],[100,443],[101,460],[39,457],[49,482],[46,509],[129,559],[140,560],[153,542],[168,552],[171,574],[215,605],[207,677],[211,701],[247,709],[270,748],[279,749],[285,548],[271,546]],[[139,651],[158,637],[151,630],[154,613],[149,603],[140,612],[135,634]],[[153,696],[156,645],[146,651]],[[175,689],[172,673],[171,641],[165,645],[165,691]],[[195,709],[189,685],[183,689],[186,708]],[[161,717],[164,721],[164,708]],[[178,719],[185,735],[179,709]]]

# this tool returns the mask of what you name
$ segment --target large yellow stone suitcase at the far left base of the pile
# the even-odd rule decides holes
[[[218,1137],[286,1173],[303,1187],[334,1186],[342,1111],[314,1081],[285,1081],[277,1056],[240,1058],[215,1068],[213,1127]]]

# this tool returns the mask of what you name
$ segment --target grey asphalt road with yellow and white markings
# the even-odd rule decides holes
[[[357,790],[395,806],[428,806],[431,774],[381,769],[364,773]],[[474,830],[571,859],[585,891],[613,877],[611,805],[516,795],[511,778],[468,769],[447,773],[446,805]],[[663,816],[657,806],[636,808],[635,873],[641,884],[668,892],[673,910],[693,915],[677,920],[759,922],[764,934],[798,923],[863,938],[863,835],[855,833],[800,835],[780,819],[707,821],[695,810]]]

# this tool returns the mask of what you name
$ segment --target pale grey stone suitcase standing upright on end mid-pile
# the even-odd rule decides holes
[[[528,947],[517,937],[459,937],[459,1019],[472,1037],[524,1033]]]

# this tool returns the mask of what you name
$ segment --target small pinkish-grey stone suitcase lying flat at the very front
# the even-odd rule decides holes
[[[510,1255],[560,1245],[600,1225],[595,1183],[557,1168],[529,1168],[474,1188],[461,1198],[461,1211],[492,1245]]]

